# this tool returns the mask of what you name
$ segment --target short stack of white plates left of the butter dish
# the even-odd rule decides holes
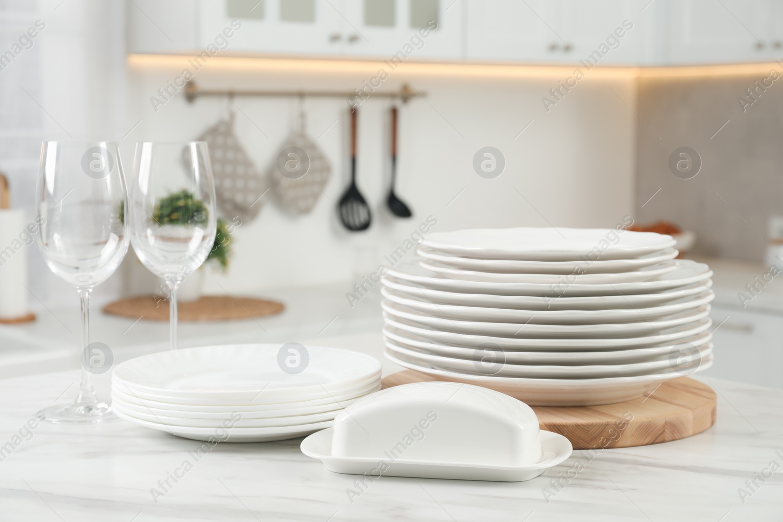
[[[381,362],[301,344],[235,344],[145,355],[112,375],[117,416],[198,441],[262,442],[330,427],[381,389]]]

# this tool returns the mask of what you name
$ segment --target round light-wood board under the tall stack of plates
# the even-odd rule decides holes
[[[384,388],[438,380],[415,370],[392,373]],[[680,377],[662,383],[647,397],[600,406],[536,407],[542,430],[571,441],[574,449],[627,448],[677,441],[702,433],[715,423],[715,391],[698,380]]]

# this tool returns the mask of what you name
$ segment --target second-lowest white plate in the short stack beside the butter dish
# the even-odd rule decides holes
[[[312,413],[311,415],[301,416],[271,417],[269,419],[247,419],[242,416],[241,413],[236,413],[233,417],[231,416],[232,414],[224,414],[220,419],[193,419],[191,417],[172,417],[151,412],[139,412],[126,406],[127,405],[123,401],[112,401],[111,403],[111,407],[114,408],[114,411],[123,412],[125,415],[133,417],[134,419],[179,427],[212,428],[213,430],[218,429],[230,419],[234,419],[234,426],[237,428],[287,427],[299,426],[301,424],[323,423],[327,420],[334,420],[334,416],[341,411],[338,409],[332,412]]]

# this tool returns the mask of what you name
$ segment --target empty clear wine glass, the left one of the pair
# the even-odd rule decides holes
[[[42,410],[49,422],[117,419],[90,380],[89,297],[128,251],[125,196],[116,142],[43,143],[35,202],[38,247],[49,269],[74,285],[81,298],[81,389],[70,404]]]

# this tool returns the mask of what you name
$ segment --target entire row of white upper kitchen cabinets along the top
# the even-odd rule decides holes
[[[223,54],[579,65],[603,50],[602,65],[630,66],[783,56],[783,0],[134,0],[127,9],[132,52],[199,52],[236,19]],[[428,20],[438,28],[419,39]]]

